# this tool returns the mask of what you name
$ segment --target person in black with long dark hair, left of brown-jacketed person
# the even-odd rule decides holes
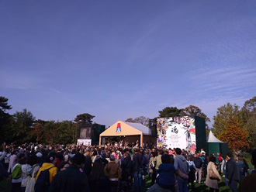
[[[109,177],[104,173],[104,165],[101,159],[95,160],[92,166],[92,173],[89,179],[91,192],[110,192]]]

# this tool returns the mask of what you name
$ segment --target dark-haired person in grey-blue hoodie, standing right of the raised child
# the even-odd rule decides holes
[[[189,172],[189,164],[187,163],[187,159],[185,159],[184,156],[182,156],[182,150],[179,148],[175,149],[175,170],[180,170],[185,175],[188,175]],[[178,175],[178,187],[180,192],[188,192],[188,180],[185,178],[180,177]]]

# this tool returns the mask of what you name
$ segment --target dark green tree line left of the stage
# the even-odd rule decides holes
[[[76,143],[79,125],[92,124],[95,116],[77,115],[74,121],[44,121],[36,119],[26,108],[9,115],[8,98],[0,97],[0,142],[40,142],[46,144]]]

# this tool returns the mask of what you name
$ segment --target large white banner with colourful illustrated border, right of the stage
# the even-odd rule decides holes
[[[157,118],[157,146],[188,149],[195,153],[195,118]]]

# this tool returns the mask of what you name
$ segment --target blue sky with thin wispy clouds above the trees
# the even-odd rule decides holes
[[[112,125],[167,106],[209,118],[256,92],[256,1],[0,1],[11,114]],[[212,121],[213,123],[213,121]]]

